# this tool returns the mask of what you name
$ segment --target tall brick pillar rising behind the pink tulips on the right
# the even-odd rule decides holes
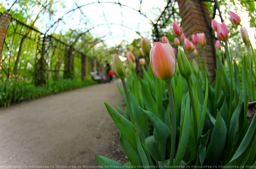
[[[205,62],[206,66],[208,67],[210,82],[214,81],[215,78],[215,57],[214,57],[214,50],[212,48],[212,41],[211,41],[211,32],[209,29],[209,25],[207,25],[207,21],[205,16],[208,20],[208,23],[211,24],[211,18],[209,15],[209,11],[207,9],[206,4],[204,1],[201,1],[203,9],[200,5],[200,0],[178,0],[179,10],[180,10],[180,17],[181,17],[181,26],[185,36],[192,41],[192,34],[204,32],[206,36],[206,46],[204,46],[205,52]],[[199,46],[199,45],[198,45]],[[203,60],[203,53],[201,47],[199,46],[198,51],[201,60]],[[190,59],[192,61],[192,59]],[[203,63],[203,61],[202,61]]]

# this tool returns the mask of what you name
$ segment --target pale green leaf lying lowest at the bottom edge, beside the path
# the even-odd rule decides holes
[[[94,155],[95,155],[99,165],[101,166],[101,168],[108,169],[108,168],[111,168],[113,166],[115,166],[115,167],[121,166],[122,168],[123,167],[126,168],[123,164],[120,164],[120,163],[118,163],[118,162],[116,162],[116,161],[114,161],[112,159],[109,159],[109,158],[103,157],[103,156],[99,156],[99,155],[97,155],[95,153],[94,153]]]

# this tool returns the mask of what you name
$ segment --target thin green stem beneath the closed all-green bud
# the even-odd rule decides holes
[[[196,103],[195,103],[195,98],[194,98],[194,94],[193,94],[193,89],[192,89],[192,85],[191,85],[191,79],[187,79],[187,84],[188,84],[188,91],[189,91],[189,95],[190,95],[190,100],[192,103],[192,111],[193,111],[193,120],[194,120],[194,136],[195,138],[197,137],[197,118],[196,118]]]

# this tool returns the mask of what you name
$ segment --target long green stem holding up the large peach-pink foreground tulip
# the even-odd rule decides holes
[[[170,153],[170,162],[169,162],[169,166],[172,166],[174,153],[175,153],[175,142],[176,142],[176,117],[175,117],[176,114],[175,114],[171,81],[166,81],[166,85],[167,85],[169,101],[170,101],[171,121],[172,121],[172,143],[171,143],[171,153]]]

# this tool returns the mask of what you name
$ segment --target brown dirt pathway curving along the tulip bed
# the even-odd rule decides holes
[[[123,106],[116,84],[98,84],[0,110],[0,165],[98,165],[124,158],[103,101]]]

